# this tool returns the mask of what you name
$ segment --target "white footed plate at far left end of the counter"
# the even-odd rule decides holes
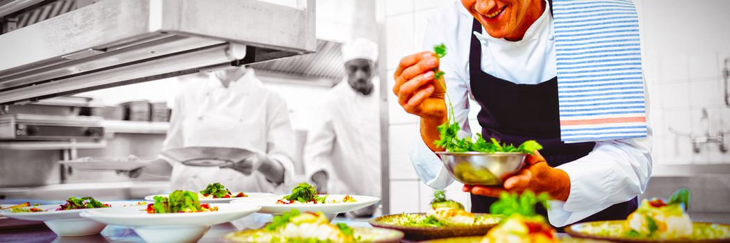
[[[112,207],[122,207],[130,203],[109,203]],[[12,217],[18,220],[34,220],[43,221],[53,233],[58,236],[90,236],[99,234],[104,227],[104,223],[88,220],[80,216],[81,212],[106,210],[104,209],[72,209],[55,211],[61,204],[41,205],[37,208],[48,211],[44,212],[11,212],[12,209],[0,210],[0,215]],[[12,206],[12,205],[11,205]],[[30,207],[24,207],[30,208]]]

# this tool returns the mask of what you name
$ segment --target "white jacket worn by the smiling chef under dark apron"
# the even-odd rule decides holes
[[[447,55],[439,63],[440,69],[445,72],[456,122],[461,124],[461,137],[472,136],[467,123],[471,109],[469,96],[473,99],[469,84],[472,34],[482,45],[483,72],[518,84],[538,84],[557,76],[553,18],[549,5],[524,38],[517,42],[493,38],[486,31],[483,31],[484,34],[473,32],[473,20],[461,2],[454,1],[429,18],[426,25],[429,28],[426,28],[423,40],[424,50],[431,50],[441,43],[447,47]],[[596,142],[590,154],[557,166],[570,177],[570,196],[565,202],[550,201],[550,223],[558,227],[575,223],[612,204],[644,193],[652,168],[651,134],[648,126],[646,138]],[[446,188],[454,181],[420,134],[415,138],[409,155],[416,173],[431,188]]]

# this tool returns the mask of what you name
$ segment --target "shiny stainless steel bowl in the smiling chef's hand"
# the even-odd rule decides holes
[[[502,185],[522,168],[523,153],[437,152],[458,182],[467,185]]]

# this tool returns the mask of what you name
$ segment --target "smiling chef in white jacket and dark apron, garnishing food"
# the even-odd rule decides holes
[[[477,120],[484,137],[514,144],[536,139],[545,147],[539,151],[542,155],[530,156],[529,166],[503,186],[464,187],[472,193],[472,212],[488,212],[503,191],[533,190],[555,199],[547,215],[558,227],[582,220],[625,219],[637,208],[637,195],[644,192],[651,174],[650,126],[646,136],[561,142],[556,68],[560,62],[556,61],[556,24],[550,4],[548,0],[462,0],[429,18],[423,49],[444,44],[447,55],[440,59],[430,51],[409,55],[394,74],[393,93],[399,104],[420,117],[420,136],[410,149],[410,159],[431,188],[446,188],[454,181],[434,153],[444,150],[434,141],[439,139],[437,126],[447,121],[447,92],[453,101],[453,119],[461,126],[460,137],[472,136],[467,117],[470,109],[481,109]],[[622,4],[633,9],[630,1]],[[581,8],[585,7],[576,7]],[[434,69],[445,72],[437,80],[445,82],[445,89],[434,81]],[[469,99],[479,107],[470,107]]]

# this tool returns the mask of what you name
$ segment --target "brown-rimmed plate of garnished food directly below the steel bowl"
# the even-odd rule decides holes
[[[385,215],[369,221],[377,228],[402,231],[409,241],[423,241],[457,236],[483,236],[498,225],[502,217],[473,214],[458,201],[446,198],[443,190],[434,192],[431,208],[425,213]]]

